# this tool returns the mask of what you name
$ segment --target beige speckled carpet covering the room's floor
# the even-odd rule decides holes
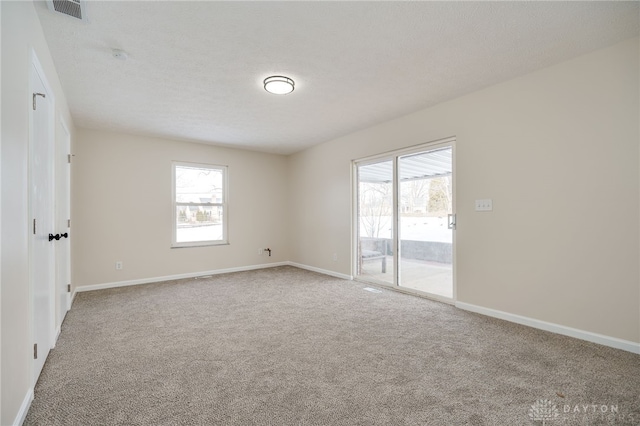
[[[365,287],[277,267],[79,293],[25,424],[640,424],[639,355]]]

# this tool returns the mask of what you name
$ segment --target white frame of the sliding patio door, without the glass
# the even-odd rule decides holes
[[[352,209],[351,209],[351,217],[352,217],[352,227],[351,229],[353,230],[352,232],[352,240],[351,240],[351,245],[352,245],[352,265],[351,265],[351,276],[354,277],[354,280],[356,281],[361,281],[361,282],[366,282],[367,284],[373,284],[373,285],[379,285],[379,286],[383,286],[386,288],[390,288],[393,290],[397,290],[403,293],[410,293],[410,294],[416,294],[419,295],[421,297],[426,297],[429,299],[434,299],[434,300],[438,300],[441,302],[445,302],[445,303],[449,303],[449,304],[454,304],[455,301],[457,300],[457,285],[456,285],[456,265],[457,265],[457,259],[456,259],[456,232],[455,232],[455,227],[453,230],[453,235],[452,235],[452,260],[453,260],[453,266],[452,266],[452,285],[453,285],[453,298],[449,299],[446,297],[441,297],[435,294],[431,294],[431,293],[425,293],[419,290],[414,290],[414,289],[410,289],[407,287],[403,287],[400,285],[401,283],[401,274],[402,274],[402,268],[400,268],[400,235],[398,233],[399,231],[399,226],[400,226],[400,212],[399,212],[399,191],[400,191],[400,185],[399,185],[399,175],[398,175],[398,162],[400,157],[404,157],[407,155],[411,155],[411,154],[417,154],[420,152],[425,152],[425,151],[434,151],[440,148],[447,148],[447,147],[451,147],[451,176],[452,176],[452,209],[453,209],[453,214],[454,216],[456,215],[456,185],[457,185],[457,179],[456,179],[456,138],[455,137],[449,137],[449,138],[444,138],[444,139],[439,139],[436,141],[432,141],[432,142],[427,142],[427,143],[423,143],[423,144],[419,144],[419,145],[413,145],[410,147],[406,147],[406,148],[402,148],[402,149],[398,149],[398,150],[392,150],[392,151],[387,151],[381,154],[376,154],[376,155],[372,155],[372,156],[368,156],[368,157],[364,157],[364,158],[359,158],[359,159],[354,159],[351,161],[351,172],[352,172],[352,177],[351,177],[351,181],[352,181],[352,185],[351,185],[351,192],[352,192]],[[365,166],[368,164],[374,164],[374,163],[378,163],[378,162],[382,162],[382,161],[391,161],[393,164],[393,216],[392,216],[392,233],[393,233],[393,253],[394,253],[394,267],[393,267],[393,284],[387,284],[385,282],[382,281],[378,281],[378,280],[365,280],[362,279],[359,275],[358,275],[358,268],[359,268],[359,253],[358,253],[358,246],[359,246],[359,238],[360,238],[360,212],[359,212],[359,205],[360,205],[360,201],[359,201],[359,176],[358,176],[358,167],[359,166]]]

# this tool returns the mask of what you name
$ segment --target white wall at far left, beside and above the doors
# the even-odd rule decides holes
[[[0,424],[19,420],[30,392],[28,187],[29,67],[33,48],[56,100],[56,122],[73,122],[32,2],[0,2],[2,10],[2,145]],[[28,400],[27,400],[28,401]]]

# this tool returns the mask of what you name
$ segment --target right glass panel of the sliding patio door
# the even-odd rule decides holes
[[[398,158],[399,285],[453,298],[452,148]]]

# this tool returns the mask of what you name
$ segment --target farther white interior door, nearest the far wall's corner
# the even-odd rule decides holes
[[[55,241],[56,253],[56,333],[67,311],[71,308],[71,251],[70,251],[70,188],[71,188],[71,135],[67,126],[60,121],[60,139],[56,144],[56,235],[60,239]]]

